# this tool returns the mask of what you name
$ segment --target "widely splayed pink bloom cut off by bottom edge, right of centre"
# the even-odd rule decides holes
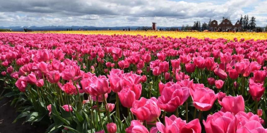
[[[165,117],[165,126],[161,122],[156,122],[156,128],[161,133],[201,133],[201,125],[198,119],[188,123],[175,115]]]

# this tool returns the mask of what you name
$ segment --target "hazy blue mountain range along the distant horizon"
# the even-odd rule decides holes
[[[0,27],[0,29],[12,29],[12,31],[23,31],[24,28],[27,28],[28,30],[32,30],[32,31],[66,31],[67,29],[71,29],[72,30],[79,30],[80,29],[84,29],[84,30],[107,30],[108,28],[111,30],[123,30],[123,28],[130,28],[131,30],[136,30],[137,28],[139,28],[140,30],[142,29],[142,27],[144,26],[124,26],[124,27],[94,27],[94,26],[42,26],[42,27],[38,27],[38,26],[11,26],[11,27]],[[151,28],[151,27],[147,27],[147,28]],[[179,28],[181,29],[181,27],[157,27],[159,28],[163,28],[164,30],[166,28]]]

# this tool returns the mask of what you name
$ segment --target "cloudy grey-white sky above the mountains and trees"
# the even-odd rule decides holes
[[[267,0],[0,0],[0,26],[192,25],[240,15],[267,25]]]

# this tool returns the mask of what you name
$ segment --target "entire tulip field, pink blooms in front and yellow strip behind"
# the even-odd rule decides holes
[[[47,133],[267,133],[266,33],[112,32],[0,32],[14,122]]]

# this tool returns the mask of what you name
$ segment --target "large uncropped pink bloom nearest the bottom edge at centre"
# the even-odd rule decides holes
[[[133,102],[133,107],[130,110],[138,120],[153,122],[156,121],[161,114],[161,109],[156,102],[157,99],[155,97],[150,99],[141,97],[140,100],[135,100]]]

